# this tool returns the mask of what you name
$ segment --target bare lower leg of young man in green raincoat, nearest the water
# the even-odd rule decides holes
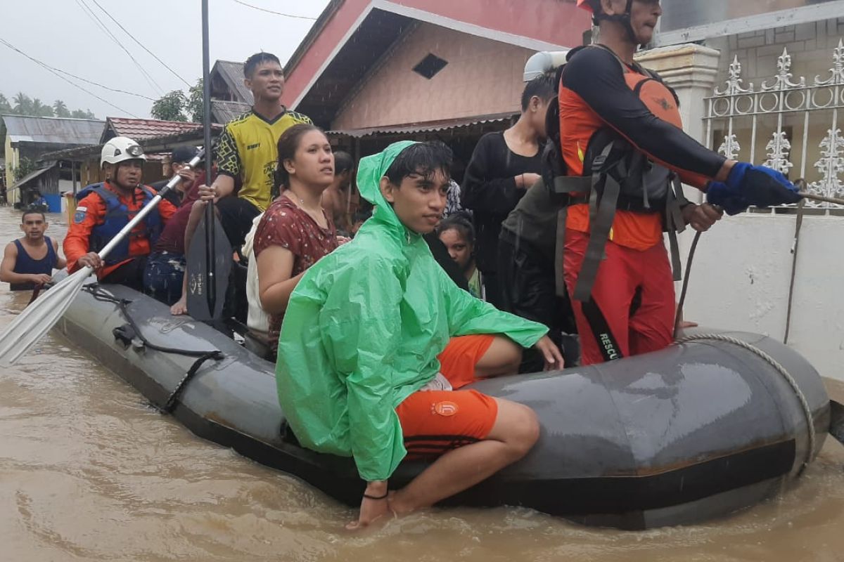
[[[413,481],[390,497],[392,511],[400,515],[430,507],[462,492],[515,463],[539,438],[533,409],[505,399],[495,399],[498,415],[484,441],[446,452]]]

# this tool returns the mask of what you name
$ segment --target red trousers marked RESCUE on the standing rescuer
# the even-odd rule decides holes
[[[589,234],[565,231],[565,286],[574,294]],[[592,298],[572,299],[583,365],[657,351],[674,335],[674,281],[663,244],[641,251],[607,242]]]

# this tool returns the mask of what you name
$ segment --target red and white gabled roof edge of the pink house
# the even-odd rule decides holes
[[[306,115],[333,111],[417,22],[535,51],[580,45],[590,27],[567,0],[333,0],[285,66],[282,103]]]

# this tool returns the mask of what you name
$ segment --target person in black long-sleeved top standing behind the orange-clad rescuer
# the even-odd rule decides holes
[[[527,83],[519,120],[506,131],[482,136],[466,169],[461,200],[473,211],[478,269],[484,275],[486,300],[496,308],[503,306],[498,280],[501,222],[539,179],[545,114],[554,97],[548,78]]]

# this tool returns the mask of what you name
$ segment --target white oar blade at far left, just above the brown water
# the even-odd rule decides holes
[[[85,267],[67,276],[19,313],[0,334],[0,366],[14,365],[62,318],[91,268]]]

